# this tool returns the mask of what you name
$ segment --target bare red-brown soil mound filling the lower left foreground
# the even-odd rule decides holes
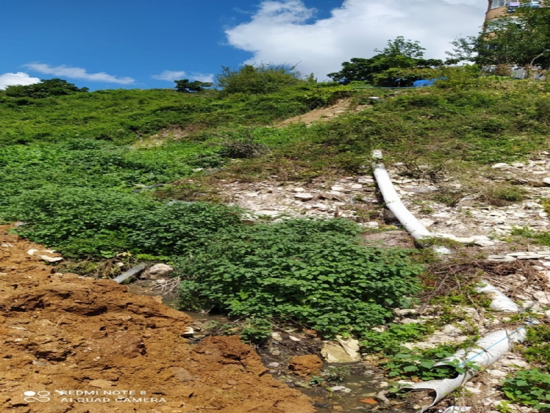
[[[56,273],[27,253],[43,247],[7,230],[0,226],[1,412],[316,411],[236,337],[192,346],[181,336],[186,314],[111,280]]]

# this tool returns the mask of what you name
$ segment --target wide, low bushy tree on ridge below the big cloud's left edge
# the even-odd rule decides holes
[[[222,72],[216,78],[224,94],[265,94],[305,82],[294,66],[262,64],[244,65],[238,70],[225,66],[221,68]]]

